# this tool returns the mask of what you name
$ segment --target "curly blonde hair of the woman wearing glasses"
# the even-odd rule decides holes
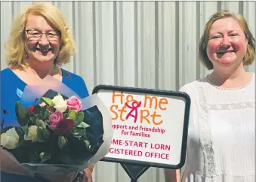
[[[53,29],[60,32],[60,52],[54,60],[54,64],[63,65],[69,62],[70,56],[76,53],[76,47],[63,14],[54,5],[35,2],[27,7],[12,24],[11,34],[5,47],[7,64],[22,68],[27,66],[24,30],[29,14],[44,17]]]

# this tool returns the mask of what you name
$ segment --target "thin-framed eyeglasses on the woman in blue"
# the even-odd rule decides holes
[[[42,35],[45,34],[48,41],[57,41],[60,36],[60,32],[51,31],[47,33],[42,33],[37,30],[25,30],[26,35],[31,41],[39,41],[42,38]]]

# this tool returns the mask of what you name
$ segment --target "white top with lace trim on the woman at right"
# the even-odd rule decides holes
[[[206,78],[182,86],[191,99],[183,182],[255,181],[255,74],[221,89]]]

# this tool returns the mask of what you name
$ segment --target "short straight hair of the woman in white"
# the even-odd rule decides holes
[[[209,40],[209,32],[211,29],[212,24],[220,19],[231,17],[234,20],[236,20],[239,25],[241,26],[243,32],[245,32],[245,38],[248,39],[248,45],[247,45],[247,51],[245,53],[245,56],[243,58],[244,65],[251,65],[254,62],[254,56],[255,56],[255,39],[253,35],[251,34],[250,29],[248,28],[248,24],[245,20],[245,18],[241,14],[233,14],[230,13],[228,10],[224,11],[217,11],[217,13],[213,14],[210,17],[210,20],[205,25],[205,30],[202,34],[202,37],[199,41],[199,60],[202,62],[203,65],[205,65],[208,70],[213,69],[213,65],[211,60],[207,56],[206,47]]]

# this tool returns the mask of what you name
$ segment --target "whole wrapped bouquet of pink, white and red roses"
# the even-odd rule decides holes
[[[80,99],[62,83],[26,86],[15,113],[18,125],[1,130],[2,153],[30,174],[79,171],[108,153],[112,121],[97,95]]]

